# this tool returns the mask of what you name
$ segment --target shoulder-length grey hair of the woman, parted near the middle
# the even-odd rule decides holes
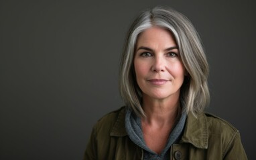
[[[182,63],[188,73],[181,87],[180,103],[186,113],[192,112],[196,116],[210,101],[207,83],[208,62],[200,37],[192,23],[170,7],[147,9],[132,23],[120,61],[119,91],[123,101],[138,116],[145,117],[141,89],[135,78],[133,57],[139,34],[150,27],[162,27],[174,35]]]

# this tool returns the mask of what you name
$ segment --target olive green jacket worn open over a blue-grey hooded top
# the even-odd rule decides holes
[[[188,114],[179,143],[170,149],[171,159],[247,159],[239,131],[213,115]],[[101,118],[92,129],[84,159],[143,159],[143,149],[125,131],[125,107]]]

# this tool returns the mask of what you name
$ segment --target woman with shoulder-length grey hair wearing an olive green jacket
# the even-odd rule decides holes
[[[190,21],[168,7],[143,11],[121,58],[126,107],[97,122],[84,159],[247,159],[239,131],[204,113],[207,77]]]

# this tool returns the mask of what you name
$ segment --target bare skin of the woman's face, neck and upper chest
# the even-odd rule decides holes
[[[141,119],[145,143],[161,153],[178,115],[180,87],[186,73],[172,33],[160,27],[143,31],[133,64],[147,115]]]

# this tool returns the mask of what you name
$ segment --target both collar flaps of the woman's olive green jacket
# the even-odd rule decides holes
[[[116,137],[124,137],[127,135],[125,130],[125,107],[122,107],[117,115],[117,121],[115,122],[110,135]],[[195,147],[207,149],[208,123],[204,113],[198,114],[197,117],[192,113],[188,113],[181,142],[191,143]]]

